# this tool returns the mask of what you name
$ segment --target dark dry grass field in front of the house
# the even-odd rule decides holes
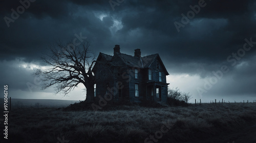
[[[8,142],[256,142],[256,103],[110,111],[13,108]],[[3,129],[1,124],[1,129]],[[2,142],[2,141],[0,141]]]

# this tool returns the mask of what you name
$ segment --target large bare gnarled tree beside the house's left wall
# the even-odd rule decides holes
[[[47,68],[39,68],[34,75],[40,76],[42,89],[55,85],[56,93],[69,94],[79,83],[86,88],[86,102],[93,102],[95,55],[89,50],[90,44],[85,41],[79,45],[62,44],[51,47],[50,54],[42,57]]]

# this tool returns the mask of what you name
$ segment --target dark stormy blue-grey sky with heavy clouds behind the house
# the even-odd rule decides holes
[[[96,55],[113,55],[116,44],[126,54],[159,53],[169,87],[193,94],[191,102],[256,99],[255,1],[0,3],[0,78],[13,98],[83,100],[81,85],[62,97],[41,91],[31,74],[49,45],[86,38]]]

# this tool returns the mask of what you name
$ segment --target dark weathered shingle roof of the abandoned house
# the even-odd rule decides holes
[[[136,67],[136,68],[150,68],[150,66],[152,65],[152,63],[158,58],[160,63],[163,65],[163,62],[159,56],[158,53],[156,54],[151,54],[151,55],[146,55],[143,56],[141,58],[136,57],[136,56],[132,56],[132,55],[128,55],[128,54],[124,54],[124,53],[117,53],[114,56],[119,56],[119,58],[122,60],[122,62],[130,67]],[[108,54],[104,54],[104,53],[99,53],[99,56],[97,58],[97,60],[99,60],[101,57],[106,61],[111,63],[113,57],[112,55],[108,55]],[[169,73],[167,72],[165,66],[163,65],[164,71],[166,72],[166,75],[168,75]]]

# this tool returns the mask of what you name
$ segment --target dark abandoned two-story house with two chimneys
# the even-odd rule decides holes
[[[132,56],[120,53],[115,45],[113,56],[99,53],[92,71],[95,98],[111,94],[113,102],[167,102],[168,72],[158,53],[141,57],[140,49],[135,49]]]

